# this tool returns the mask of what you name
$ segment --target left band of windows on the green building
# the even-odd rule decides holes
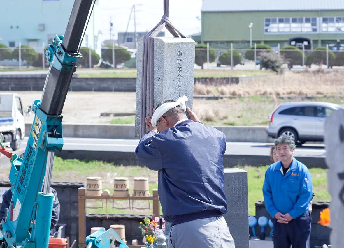
[[[265,18],[265,33],[316,33],[316,17]]]

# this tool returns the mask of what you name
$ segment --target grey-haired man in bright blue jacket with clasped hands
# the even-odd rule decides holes
[[[275,146],[281,160],[267,169],[263,185],[265,207],[274,217],[273,246],[309,248],[311,173],[293,157],[295,143],[291,137],[280,136]]]

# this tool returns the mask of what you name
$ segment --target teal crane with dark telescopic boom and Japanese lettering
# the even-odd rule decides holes
[[[46,49],[50,67],[42,99],[33,102],[35,118],[23,158],[12,157],[9,179],[13,196],[0,220],[1,248],[48,248],[54,201],[54,194],[50,193],[54,152],[63,147],[61,113],[77,58],[82,57],[78,47],[94,3],[75,0],[65,35],[56,35]],[[85,241],[88,248],[128,247],[112,229],[99,230]]]

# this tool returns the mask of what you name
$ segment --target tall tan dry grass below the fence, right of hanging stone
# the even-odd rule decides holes
[[[207,86],[210,87],[210,86]],[[204,94],[208,88],[195,85],[195,95]],[[267,75],[252,77],[241,81],[239,84],[213,87],[216,95],[269,96],[269,95],[343,95],[344,71],[322,69],[316,71],[291,72],[282,75]],[[199,90],[202,89],[202,90]]]

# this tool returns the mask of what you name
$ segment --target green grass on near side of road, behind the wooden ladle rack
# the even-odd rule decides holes
[[[244,169],[248,173],[248,208],[249,215],[255,215],[255,201],[263,200],[262,185],[264,182],[264,174],[268,166],[264,167],[238,167]],[[313,192],[315,194],[314,201],[330,201],[330,195],[327,193],[327,174],[325,169],[310,169],[313,181]],[[69,182],[86,182],[88,176],[99,176],[102,178],[103,190],[113,190],[114,177],[129,177],[129,191],[132,193],[133,177],[148,177],[149,190],[152,195],[152,190],[158,187],[158,172],[151,171],[146,167],[139,166],[114,166],[112,164],[100,161],[80,161],[80,160],[63,160],[55,157],[53,167],[53,181],[69,181]],[[230,201],[230,199],[228,200]],[[106,213],[105,200],[104,207],[98,209],[88,209],[88,213]],[[115,206],[125,207],[129,206],[128,201],[115,201]],[[101,206],[100,200],[87,200],[87,206]],[[135,201],[137,207],[148,207],[146,201]],[[152,207],[152,204],[151,204]],[[112,209],[112,202],[108,201],[109,213],[130,213],[130,214],[146,214],[151,213],[151,210],[118,210]]]

